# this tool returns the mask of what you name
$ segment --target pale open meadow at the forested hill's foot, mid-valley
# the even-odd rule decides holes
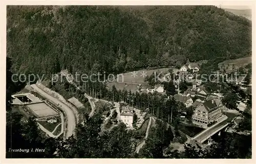
[[[170,67],[173,68],[173,67]],[[119,75],[117,81],[113,83],[108,83],[108,87],[111,89],[113,85],[115,85],[117,90],[123,90],[126,89],[127,91],[131,90],[132,92],[135,92],[138,88],[137,86],[139,84],[142,85],[143,88],[148,88],[151,86],[148,86],[144,82],[145,75],[151,76],[154,72],[162,72],[162,74],[167,73],[169,68],[160,68],[160,69],[152,69],[152,70],[147,70],[147,69],[141,69],[137,72],[136,74],[134,72],[126,72],[123,73],[123,78],[121,75]],[[144,73],[144,74],[143,74]],[[127,85],[127,86],[125,86]]]

